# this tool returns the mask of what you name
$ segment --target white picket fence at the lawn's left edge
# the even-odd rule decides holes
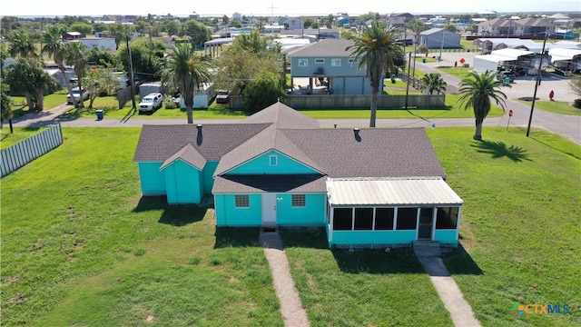
[[[63,132],[61,131],[61,124],[56,124],[39,134],[34,134],[2,150],[0,153],[0,173],[2,173],[2,177],[61,144],[63,144]]]

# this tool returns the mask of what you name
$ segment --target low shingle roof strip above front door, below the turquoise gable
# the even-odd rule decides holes
[[[326,181],[319,174],[223,175],[214,180],[212,193],[324,193]]]

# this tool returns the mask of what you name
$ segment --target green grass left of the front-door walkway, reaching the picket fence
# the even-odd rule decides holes
[[[142,198],[138,128],[64,128],[2,179],[3,325],[281,326],[258,229]]]

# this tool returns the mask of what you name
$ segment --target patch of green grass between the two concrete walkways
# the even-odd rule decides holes
[[[408,251],[330,251],[321,230],[282,231],[311,326],[450,326],[428,274]]]

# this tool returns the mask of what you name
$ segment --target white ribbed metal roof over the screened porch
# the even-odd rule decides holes
[[[331,205],[461,204],[443,179],[327,179]]]

